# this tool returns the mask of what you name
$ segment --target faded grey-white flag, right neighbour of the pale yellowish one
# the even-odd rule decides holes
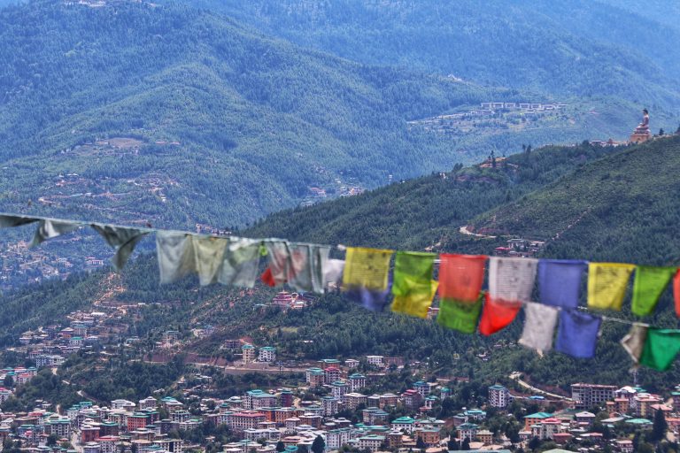
[[[252,288],[258,278],[259,246],[257,239],[228,238],[217,280],[223,285]]]

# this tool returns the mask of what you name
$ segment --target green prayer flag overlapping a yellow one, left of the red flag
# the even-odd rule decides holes
[[[434,253],[398,251],[394,261],[392,311],[427,318],[438,282],[432,280]]]

